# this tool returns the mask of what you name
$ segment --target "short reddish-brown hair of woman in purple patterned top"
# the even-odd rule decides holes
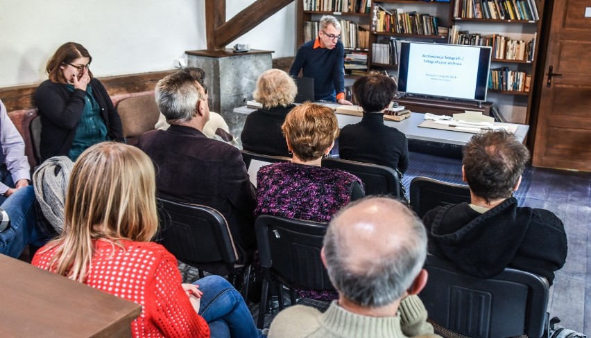
[[[339,136],[339,122],[329,107],[304,103],[291,109],[281,130],[302,161],[320,159]]]

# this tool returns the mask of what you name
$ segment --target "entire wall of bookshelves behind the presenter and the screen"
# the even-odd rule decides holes
[[[396,76],[395,50],[402,40],[493,46],[487,100],[499,107],[507,121],[529,123],[544,0],[297,2],[297,47],[314,39],[318,32],[316,27],[307,36],[309,39],[305,39],[305,22],[318,21],[322,15],[334,15],[350,21],[367,35],[363,37],[366,41],[363,48],[358,44],[345,48],[345,55],[348,51],[367,54],[367,71],[386,71]],[[361,39],[357,37],[357,41]],[[354,74],[366,70],[359,69]],[[351,73],[345,69],[345,74]]]

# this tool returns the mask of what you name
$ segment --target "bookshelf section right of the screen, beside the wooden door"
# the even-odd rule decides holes
[[[454,0],[449,43],[491,46],[488,100],[529,123],[544,0]]]

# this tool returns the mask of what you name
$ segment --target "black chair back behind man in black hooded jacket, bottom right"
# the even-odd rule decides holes
[[[432,255],[425,269],[429,281],[419,297],[436,330],[477,338],[547,337],[546,278],[511,268],[494,278],[475,278]]]

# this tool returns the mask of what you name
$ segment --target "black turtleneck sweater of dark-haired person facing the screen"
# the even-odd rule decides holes
[[[339,156],[405,172],[409,168],[409,143],[404,133],[384,125],[384,114],[364,112],[361,122],[341,129]]]

